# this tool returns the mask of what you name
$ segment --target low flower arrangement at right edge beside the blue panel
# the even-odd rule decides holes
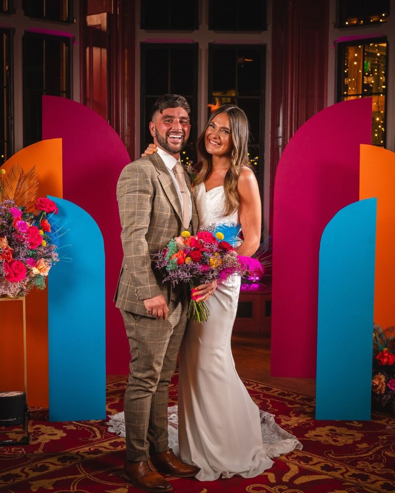
[[[395,415],[395,327],[373,324],[372,399]]]

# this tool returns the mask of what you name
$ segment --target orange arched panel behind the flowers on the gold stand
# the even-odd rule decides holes
[[[62,197],[62,139],[37,142],[20,150],[2,166],[18,163],[25,172],[36,166],[38,197]],[[56,266],[50,272],[54,272]],[[22,311],[19,302],[0,307],[0,388],[24,389]],[[18,331],[15,333],[15,331]],[[20,332],[19,332],[19,329]],[[48,293],[32,289],[26,296],[27,394],[29,406],[48,407]]]

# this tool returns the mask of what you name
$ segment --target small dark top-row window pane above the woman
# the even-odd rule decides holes
[[[209,29],[214,31],[263,31],[266,29],[265,0],[210,0]]]

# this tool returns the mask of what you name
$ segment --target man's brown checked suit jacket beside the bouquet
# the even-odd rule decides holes
[[[184,174],[191,191],[190,176],[185,170]],[[125,166],[116,197],[124,258],[114,300],[118,308],[146,316],[144,299],[163,294],[169,304],[182,289],[163,283],[165,276],[153,262],[153,255],[185,229],[180,199],[169,170],[156,153]],[[198,215],[192,200],[192,234],[197,227]]]

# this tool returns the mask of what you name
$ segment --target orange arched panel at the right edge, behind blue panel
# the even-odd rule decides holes
[[[360,199],[377,197],[374,322],[395,325],[395,154],[361,145]]]

